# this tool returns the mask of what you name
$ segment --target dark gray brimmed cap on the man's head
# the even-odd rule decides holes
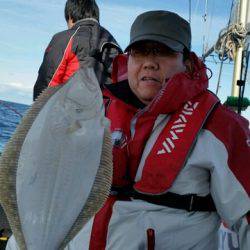
[[[164,10],[148,11],[139,15],[130,30],[128,48],[139,41],[151,40],[165,44],[174,51],[191,49],[189,23],[176,13]]]

